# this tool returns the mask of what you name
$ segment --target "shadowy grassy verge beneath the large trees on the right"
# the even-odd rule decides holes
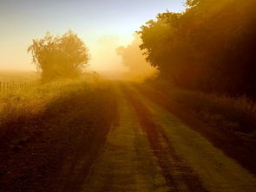
[[[256,138],[256,105],[251,99],[182,90],[166,82],[150,82],[150,86],[164,90],[169,99],[212,125]]]

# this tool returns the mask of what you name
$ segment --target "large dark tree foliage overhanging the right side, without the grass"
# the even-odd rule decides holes
[[[150,64],[176,86],[255,96],[256,1],[187,0],[186,6],[141,26]]]

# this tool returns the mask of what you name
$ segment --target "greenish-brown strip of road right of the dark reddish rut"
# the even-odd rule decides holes
[[[208,191],[248,191],[256,189],[256,178],[203,138],[199,132],[185,125],[179,118],[141,94],[127,83],[135,99],[147,106],[152,120],[161,125],[172,141],[172,146],[184,164],[194,170]],[[234,149],[235,150],[235,149]]]

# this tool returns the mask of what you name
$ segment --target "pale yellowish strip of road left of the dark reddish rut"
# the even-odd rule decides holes
[[[161,168],[151,151],[145,133],[115,83],[119,120],[83,185],[84,192],[167,192]]]

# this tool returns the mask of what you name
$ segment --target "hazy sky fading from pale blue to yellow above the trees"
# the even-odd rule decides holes
[[[115,48],[166,10],[182,11],[185,0],[0,0],[0,70],[34,69],[26,50],[47,31],[72,29],[92,54],[91,67],[121,68]]]

